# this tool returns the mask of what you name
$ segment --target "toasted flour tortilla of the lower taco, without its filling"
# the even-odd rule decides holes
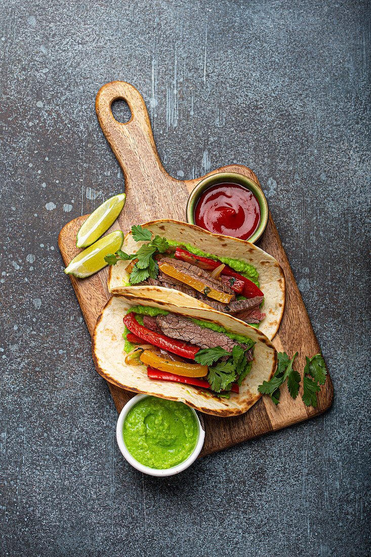
[[[231,398],[218,398],[211,392],[170,381],[147,377],[147,366],[125,364],[123,317],[130,306],[145,305],[158,307],[174,314],[212,321],[233,333],[248,336],[256,341],[250,374],[243,380],[240,393],[231,393]],[[169,302],[154,302],[138,299],[127,294],[112,297],[95,325],[92,336],[92,355],[97,372],[110,383],[135,393],[146,393],[168,400],[180,400],[206,414],[227,417],[243,414],[261,397],[258,385],[269,381],[276,370],[277,353],[271,341],[261,331],[219,311],[179,307]]]

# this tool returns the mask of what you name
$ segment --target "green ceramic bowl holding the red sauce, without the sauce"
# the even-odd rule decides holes
[[[212,185],[221,184],[223,182],[240,184],[243,187],[250,189],[250,191],[257,198],[260,206],[260,223],[252,236],[248,238],[248,242],[256,242],[265,231],[268,223],[268,203],[261,187],[256,182],[253,182],[253,180],[250,180],[250,178],[246,178],[243,174],[237,174],[234,172],[219,172],[218,174],[212,174],[211,176],[201,180],[201,182],[196,185],[196,188],[192,190],[191,195],[188,198],[186,207],[187,222],[190,224],[196,224],[194,222],[194,209],[196,208],[196,204],[201,194]]]

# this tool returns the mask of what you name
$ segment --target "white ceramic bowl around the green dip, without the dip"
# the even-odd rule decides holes
[[[124,422],[131,408],[133,408],[133,406],[137,402],[139,402],[139,400],[148,396],[149,396],[148,394],[137,394],[135,397],[131,398],[129,402],[125,404],[124,408],[121,410],[119,419],[117,421],[117,426],[116,426],[116,439],[118,442],[118,446],[121,453],[123,453],[125,459],[129,462],[129,464],[131,464],[131,466],[134,466],[134,468],[136,468],[136,470],[139,470],[139,472],[144,472],[149,476],[173,476],[174,474],[183,472],[183,470],[186,470],[188,466],[191,466],[191,464],[196,460],[199,453],[201,452],[201,449],[203,447],[203,442],[205,439],[205,431],[203,429],[203,424],[201,424],[201,421],[197,416],[196,411],[194,411],[193,408],[189,407],[191,408],[194,416],[196,417],[197,424],[198,424],[197,443],[191,455],[189,455],[189,457],[183,462],[180,462],[180,464],[178,464],[177,466],[173,466],[172,468],[165,468],[164,470],[158,470],[157,468],[150,468],[149,466],[144,466],[144,464],[141,464],[140,462],[135,460],[135,458],[130,455],[128,449],[126,448],[125,441],[124,441]]]

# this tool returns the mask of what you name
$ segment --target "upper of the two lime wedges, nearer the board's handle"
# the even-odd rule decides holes
[[[87,247],[95,242],[115,222],[125,205],[126,196],[120,193],[97,207],[86,219],[76,235],[76,246]]]

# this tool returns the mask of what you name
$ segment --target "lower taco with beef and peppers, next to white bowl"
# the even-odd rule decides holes
[[[135,393],[180,400],[216,416],[237,416],[261,397],[277,353],[259,330],[211,309],[112,297],[97,320],[97,372]]]

